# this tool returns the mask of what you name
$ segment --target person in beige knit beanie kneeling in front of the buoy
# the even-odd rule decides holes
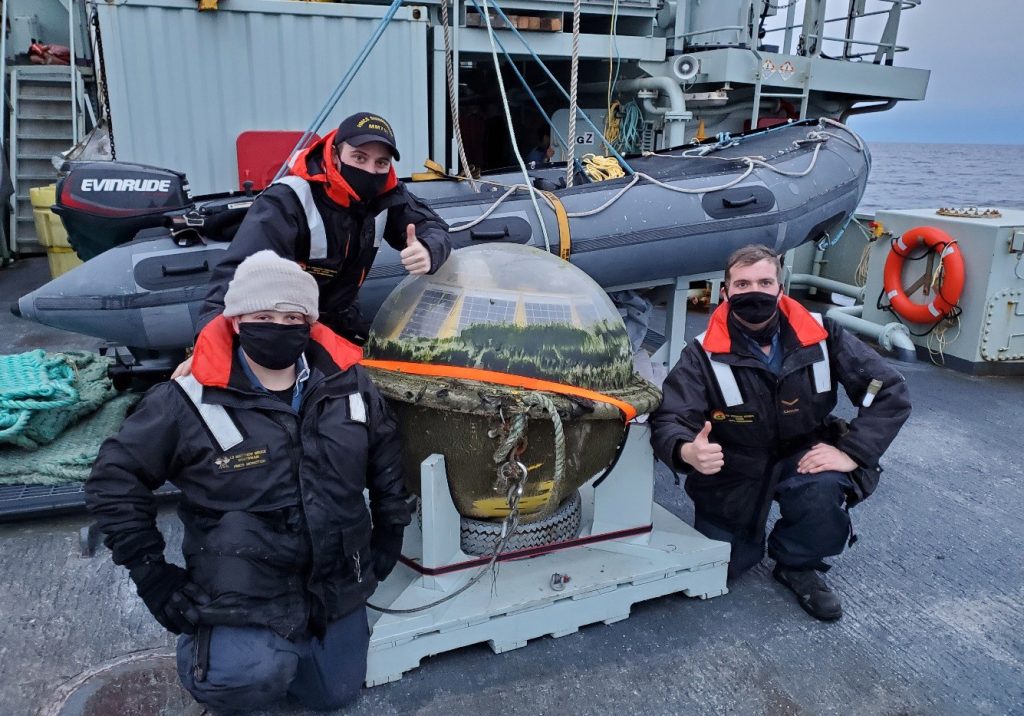
[[[315,323],[316,299],[296,263],[243,261],[191,375],[146,393],[86,483],[115,563],[181,634],[181,682],[214,709],[351,702],[366,601],[410,521],[394,418],[359,348]],[[164,559],[165,481],[181,491],[185,568]]]

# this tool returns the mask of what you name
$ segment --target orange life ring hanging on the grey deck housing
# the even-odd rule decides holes
[[[903,261],[919,246],[938,252],[942,261],[942,288],[930,303],[911,301],[903,290]],[[941,228],[916,226],[893,242],[882,285],[892,309],[904,319],[916,324],[935,323],[953,309],[964,293],[964,254],[956,241]]]

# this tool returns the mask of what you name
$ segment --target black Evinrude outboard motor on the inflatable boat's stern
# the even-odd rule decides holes
[[[195,206],[181,172],[128,162],[74,165],[57,182],[53,213],[87,261],[145,228],[169,226]]]

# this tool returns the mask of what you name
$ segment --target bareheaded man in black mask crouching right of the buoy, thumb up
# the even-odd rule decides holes
[[[732,254],[727,300],[669,374],[651,441],[686,473],[694,527],[732,544],[730,577],[761,561],[776,500],[774,576],[813,617],[834,620],[843,609],[822,559],[852,541],[847,508],[873,491],[910,402],[896,370],[782,295],[781,277],[766,246]],[[839,384],[860,406],[849,425],[830,415]]]

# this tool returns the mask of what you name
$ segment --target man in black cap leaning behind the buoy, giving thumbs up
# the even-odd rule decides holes
[[[288,176],[253,202],[213,269],[200,324],[223,308],[236,267],[262,249],[298,261],[319,285],[321,322],[346,338],[366,338],[355,296],[381,241],[419,276],[436,271],[452,251],[447,224],[395,175],[391,125],[360,112],[300,152]]]

